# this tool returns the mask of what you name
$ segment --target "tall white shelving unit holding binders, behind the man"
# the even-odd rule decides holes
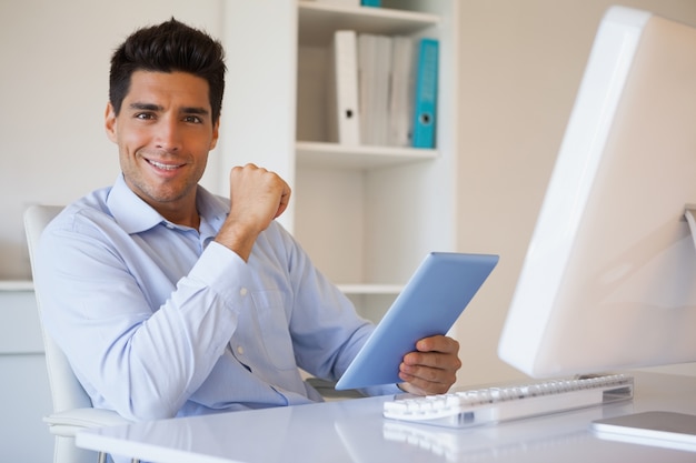
[[[455,246],[457,0],[226,8],[220,184],[246,162],[285,177],[294,193],[280,221],[358,310],[378,320],[426,253]],[[327,142],[327,59],[339,29],[439,39],[435,150]]]

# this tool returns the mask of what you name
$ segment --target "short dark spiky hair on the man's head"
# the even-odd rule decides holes
[[[130,34],[111,57],[109,101],[118,115],[135,71],[188,72],[206,79],[212,122],[217,122],[225,92],[225,50],[209,34],[176,19]]]

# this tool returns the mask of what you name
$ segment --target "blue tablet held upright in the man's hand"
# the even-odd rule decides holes
[[[446,334],[498,263],[497,255],[432,252],[396,298],[337,390],[395,384],[416,342]]]

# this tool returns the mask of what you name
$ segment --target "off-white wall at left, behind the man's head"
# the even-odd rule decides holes
[[[138,27],[170,17],[219,37],[222,0],[0,2],[0,280],[29,279],[21,214],[116,179],[103,132],[109,59]]]

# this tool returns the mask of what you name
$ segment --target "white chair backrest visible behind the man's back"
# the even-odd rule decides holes
[[[63,208],[60,205],[31,205],[24,212],[24,231],[27,233],[27,245],[29,246],[29,260],[32,273],[36,274],[36,252],[39,246],[39,238],[48,223]],[[36,286],[37,305],[39,308],[39,321],[41,333],[43,334],[43,349],[46,351],[46,365],[48,368],[48,379],[53,402],[53,412],[62,412],[72,409],[91,407],[92,402],[84,389],[76,378],[63,351],[56,341],[46,332],[43,328],[43,313],[41,311],[41,295]]]

